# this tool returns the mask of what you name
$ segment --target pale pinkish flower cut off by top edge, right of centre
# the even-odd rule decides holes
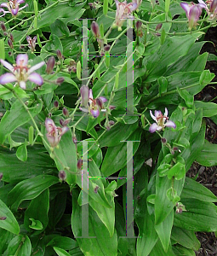
[[[125,19],[134,18],[131,13],[137,9],[139,5],[137,1],[134,1],[133,3],[127,3],[127,1],[120,3],[118,0],[115,0],[115,3],[117,7],[115,26],[118,26],[118,30],[121,30]]]

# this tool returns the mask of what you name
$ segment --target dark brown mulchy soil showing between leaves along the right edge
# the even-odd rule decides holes
[[[203,45],[201,53],[208,52],[217,55],[216,44],[217,44],[217,27],[211,27],[204,38],[207,42]],[[217,81],[217,61],[208,61],[206,69],[209,69],[211,73],[215,74],[214,81]],[[212,99],[214,99],[212,101]],[[203,102],[215,102],[217,103],[217,85],[208,84],[197,96],[195,100]],[[211,120],[206,119],[206,139],[210,143],[217,144],[217,125]],[[203,186],[210,189],[214,195],[217,196],[217,166],[205,167],[200,166],[196,162],[191,166],[189,172],[187,172],[188,177],[197,177],[197,182],[202,183]],[[217,255],[217,238],[214,233],[203,233],[197,232],[197,238],[201,242],[201,248],[196,252],[197,256],[207,256],[207,255]],[[217,235],[217,233],[216,233]]]

